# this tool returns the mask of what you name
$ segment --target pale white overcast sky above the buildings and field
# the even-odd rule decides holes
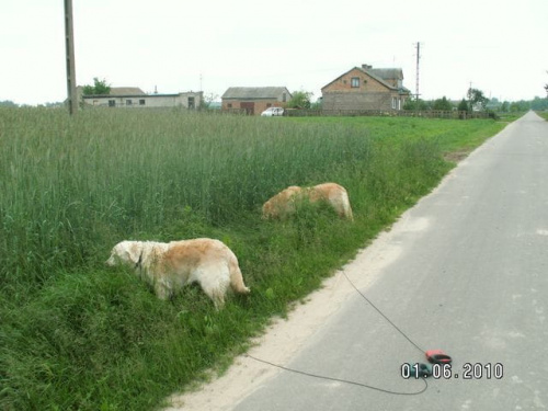
[[[423,99],[530,100],[548,83],[547,0],[73,0],[78,84],[146,92],[321,88],[400,67]],[[0,0],[0,101],[67,94],[62,0]]]

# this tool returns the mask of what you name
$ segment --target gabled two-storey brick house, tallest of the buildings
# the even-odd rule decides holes
[[[322,110],[402,110],[411,92],[400,68],[354,67],[321,89]]]

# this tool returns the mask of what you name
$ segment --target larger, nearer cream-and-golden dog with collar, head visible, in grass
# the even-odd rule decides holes
[[[217,309],[225,305],[228,287],[248,294],[235,253],[219,240],[153,242],[122,241],[114,246],[107,265],[135,269],[156,295],[167,299],[183,286],[198,283]]]

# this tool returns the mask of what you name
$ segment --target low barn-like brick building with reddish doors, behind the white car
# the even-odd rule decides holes
[[[250,115],[260,115],[269,107],[283,107],[292,100],[285,87],[231,87],[220,98],[221,110],[244,110]]]

